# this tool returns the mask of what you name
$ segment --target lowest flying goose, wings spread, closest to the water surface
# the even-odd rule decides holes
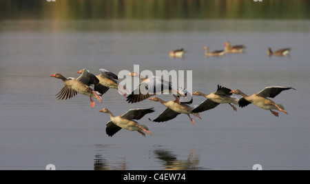
[[[147,132],[147,134],[152,136],[151,132],[149,132],[149,128],[146,125],[139,125],[138,122],[134,121],[134,119],[139,120],[143,118],[145,114],[154,112],[155,110],[153,109],[154,108],[130,109],[121,116],[113,116],[112,112],[107,110],[107,108],[103,108],[102,110],[99,110],[99,112],[110,114],[111,121],[107,122],[105,128],[105,132],[108,136],[113,136],[122,128],[130,131],[137,131],[143,136],[145,136],[144,132]]]

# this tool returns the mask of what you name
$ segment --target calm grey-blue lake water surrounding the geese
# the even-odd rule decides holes
[[[0,24],[0,170],[310,170],[310,21],[308,20],[37,20]],[[241,54],[205,57],[204,46],[246,45]],[[291,48],[269,57],[267,48]],[[169,51],[184,48],[183,58]],[[77,77],[121,70],[192,70],[193,92],[217,85],[246,94],[272,85],[296,88],[276,96],[287,112],[277,118],[255,105],[234,112],[227,104],[153,123],[165,107],[154,101],[128,104],[110,89],[90,108],[88,96],[58,101],[59,72]],[[161,97],[161,96],[159,96]],[[240,96],[238,96],[240,97]],[[173,96],[164,96],[173,99]],[[205,98],[194,96],[193,105]],[[152,108],[138,122],[152,136],[121,130],[105,134],[114,115]]]

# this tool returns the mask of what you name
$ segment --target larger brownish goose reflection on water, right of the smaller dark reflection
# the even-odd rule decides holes
[[[203,170],[198,167],[200,157],[195,155],[195,150],[189,153],[187,159],[178,159],[177,155],[168,150],[154,150],[159,162],[163,164],[164,170]]]

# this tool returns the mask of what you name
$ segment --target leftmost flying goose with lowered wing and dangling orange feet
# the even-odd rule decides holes
[[[90,106],[94,108],[95,102],[92,101],[92,97],[98,99],[101,103],[101,97],[99,96],[100,93],[92,90],[89,86],[85,85],[81,81],[78,81],[77,79],[66,79],[63,75],[56,73],[52,74],[50,76],[55,77],[56,79],[61,79],[65,85],[63,85],[63,88],[61,91],[56,94],[57,99],[63,100],[65,99],[71,99],[73,96],[75,96],[77,93],[85,94],[86,96],[90,96]]]

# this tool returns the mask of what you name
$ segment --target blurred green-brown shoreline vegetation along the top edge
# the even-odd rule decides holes
[[[309,0],[6,0],[2,19],[310,19]]]

